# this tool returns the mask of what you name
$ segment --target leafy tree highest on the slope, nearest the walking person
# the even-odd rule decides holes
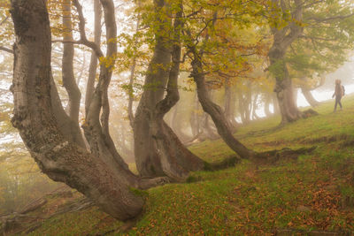
[[[274,92],[281,110],[281,123],[284,124],[303,116],[294,101],[289,63],[294,62],[295,65],[299,65],[296,62],[304,62],[304,59],[307,59],[307,65],[313,65],[311,63],[314,57],[319,57],[318,63],[320,60],[323,60],[324,64],[327,64],[326,61],[332,61],[334,65],[338,65],[338,62],[342,63],[347,55],[342,52],[350,48],[354,35],[353,8],[350,2],[340,0],[272,0],[266,9],[273,34],[273,45],[268,53],[269,70],[276,80]],[[295,44],[298,47],[295,47]],[[306,46],[309,44],[310,47]],[[289,55],[291,47],[295,49],[292,49],[293,53]],[[296,51],[296,48],[300,50]],[[308,55],[313,53],[314,56],[305,58],[301,53],[304,49],[301,48],[306,48]],[[335,57],[327,57],[329,55]],[[291,60],[291,56],[294,60]],[[304,66],[304,69],[307,68]]]

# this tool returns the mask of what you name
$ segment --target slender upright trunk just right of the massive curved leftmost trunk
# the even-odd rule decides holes
[[[73,22],[71,16],[71,0],[64,0],[62,2],[63,7],[63,58],[62,58],[62,75],[63,75],[63,86],[69,95],[69,117],[73,119],[74,122],[79,122],[80,113],[80,102],[81,102],[81,91],[77,86],[75,77],[73,75]]]

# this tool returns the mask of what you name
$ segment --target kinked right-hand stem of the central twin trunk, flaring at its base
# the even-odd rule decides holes
[[[178,2],[180,10],[176,13],[173,23],[173,51],[172,65],[168,76],[167,94],[158,102],[155,110],[156,126],[152,133],[160,150],[160,161],[165,174],[176,180],[187,178],[189,171],[202,170],[204,161],[193,155],[185,148],[172,129],[165,125],[165,114],[179,101],[178,77],[181,61],[181,26],[182,26],[182,1]]]

